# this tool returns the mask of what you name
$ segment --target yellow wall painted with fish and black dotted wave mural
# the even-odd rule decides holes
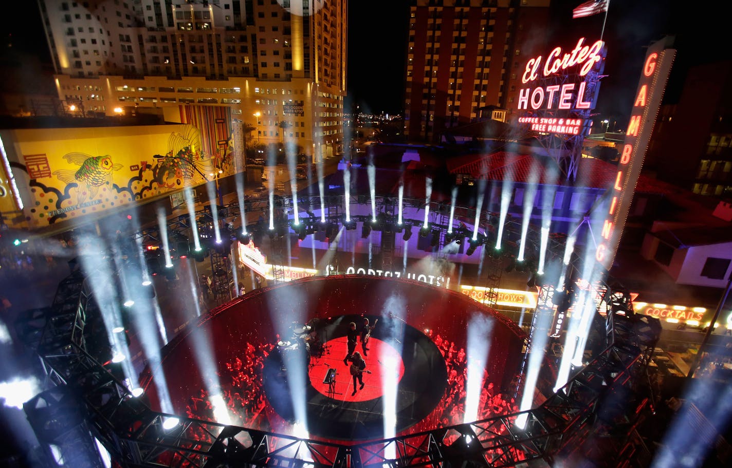
[[[231,173],[189,124],[0,133],[28,227],[99,214]],[[223,169],[220,173],[219,171]]]

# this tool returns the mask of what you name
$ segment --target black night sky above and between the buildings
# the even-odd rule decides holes
[[[572,20],[572,8],[582,0],[553,0],[548,48],[553,44],[571,47],[579,37],[600,36],[603,15]],[[408,0],[348,1],[348,105],[365,112],[403,112]],[[40,61],[52,70],[40,14],[35,1],[11,2],[13,14],[2,15],[3,43],[0,61]],[[694,8],[688,1],[611,0],[603,39],[608,58],[602,80],[597,113],[605,118],[627,119],[632,95],[638,83],[644,46],[664,34],[676,35],[679,52],[673,66],[666,100],[673,101],[684,80],[687,67],[730,59],[726,47],[727,18],[713,8]],[[18,18],[25,18],[18,21]],[[547,50],[548,52],[548,50]],[[40,77],[39,77],[40,78]],[[4,82],[5,89],[10,83]],[[22,83],[20,84],[22,86]]]

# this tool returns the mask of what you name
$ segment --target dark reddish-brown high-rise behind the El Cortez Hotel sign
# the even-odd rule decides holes
[[[545,45],[549,0],[412,0],[406,135],[436,142],[488,105],[512,109],[521,64]]]

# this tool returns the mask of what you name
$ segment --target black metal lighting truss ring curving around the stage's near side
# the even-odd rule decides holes
[[[319,198],[313,199],[319,203]],[[247,203],[253,211],[269,210],[266,201]],[[461,211],[460,217],[470,216],[469,209]],[[490,239],[490,214],[487,217],[482,243]],[[277,230],[288,226],[285,223],[287,218],[280,216]],[[404,224],[421,226],[422,221],[404,220]],[[433,224],[431,229],[447,227]],[[531,238],[538,242],[536,235]],[[561,254],[558,244],[550,249]],[[88,282],[77,271],[59,284],[51,307],[27,311],[18,321],[20,335],[40,356],[52,385],[25,410],[47,455],[55,445],[79,468],[102,466],[94,438],[123,467],[512,467],[531,460],[552,464],[577,453],[598,466],[615,466],[620,454],[627,453],[638,415],[648,405],[643,383],[660,323],[634,314],[627,291],[606,284],[594,285],[594,291],[595,321],[602,321],[604,350],[539,407],[393,439],[340,445],[164,415],[146,407],[88,352],[85,326],[100,312]],[[612,395],[623,395],[626,404],[607,398]],[[61,418],[75,423],[59,424]],[[179,423],[165,429],[168,418]],[[526,420],[524,429],[518,428],[517,418]]]

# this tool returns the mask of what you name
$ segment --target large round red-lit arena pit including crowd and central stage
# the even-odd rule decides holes
[[[356,343],[367,372],[354,388],[346,335],[351,322],[360,335],[365,318],[376,325],[366,347]],[[463,423],[469,328],[485,333],[488,355],[476,419],[515,411],[520,328],[466,295],[406,279],[326,276],[255,290],[189,324],[158,371],[179,415],[378,439],[385,413],[396,434]],[[143,388],[160,409],[149,371]]]

